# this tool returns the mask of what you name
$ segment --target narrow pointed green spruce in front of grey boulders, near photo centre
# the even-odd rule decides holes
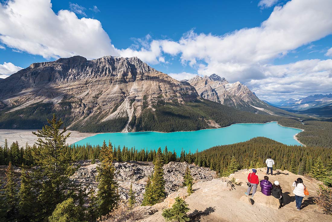
[[[153,204],[160,203],[165,199],[164,160],[159,147],[154,160],[154,170],[151,179],[153,188]]]

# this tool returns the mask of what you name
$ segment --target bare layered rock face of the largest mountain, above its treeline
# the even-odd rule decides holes
[[[59,58],[33,63],[0,83],[0,109],[7,112],[51,104],[52,109],[69,110],[70,126],[121,118],[119,125],[125,125],[125,132],[131,130],[133,117],[146,108],[197,99],[200,97],[189,83],[173,79],[137,57]]]

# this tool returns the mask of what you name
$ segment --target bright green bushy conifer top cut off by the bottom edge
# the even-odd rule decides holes
[[[73,198],[68,198],[56,205],[49,222],[82,222],[77,218],[78,210]]]

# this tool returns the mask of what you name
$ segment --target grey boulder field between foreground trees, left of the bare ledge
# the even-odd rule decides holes
[[[76,183],[81,183],[87,190],[97,189],[96,175],[97,164],[91,164],[91,161],[78,162],[81,167],[75,172],[72,178]],[[183,175],[186,167],[189,167],[194,182],[212,180],[216,176],[216,172],[205,167],[196,167],[186,162],[170,162],[164,165],[164,179],[166,192],[172,193],[182,187]],[[128,198],[130,184],[136,192],[138,202],[143,199],[143,193],[148,176],[153,172],[153,164],[151,162],[125,162],[115,163],[117,169],[116,179],[120,185],[120,195],[123,199]]]

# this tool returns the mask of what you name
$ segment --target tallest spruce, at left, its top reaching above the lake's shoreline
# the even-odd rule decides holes
[[[70,133],[63,127],[63,122],[53,115],[47,120],[42,130],[33,132],[38,137],[38,148],[33,149],[36,164],[39,167],[32,173],[33,185],[38,192],[38,204],[40,206],[36,220],[48,218],[58,203],[72,195],[76,185],[72,183],[71,176],[75,168],[71,164],[70,156],[66,149],[66,139]]]

